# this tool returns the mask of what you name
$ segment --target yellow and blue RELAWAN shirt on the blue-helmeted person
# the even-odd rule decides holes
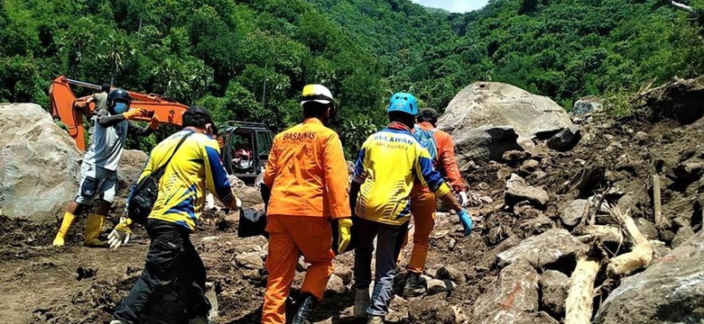
[[[357,157],[354,181],[362,184],[357,216],[390,225],[402,225],[411,217],[409,194],[414,181],[438,197],[450,191],[433,168],[428,150],[413,138],[411,129],[398,122],[366,139]]]

